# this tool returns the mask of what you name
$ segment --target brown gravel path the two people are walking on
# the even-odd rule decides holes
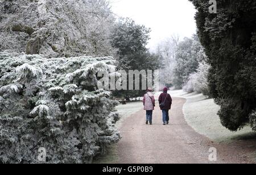
[[[120,127],[118,163],[213,163],[208,160],[209,148],[218,151],[216,163],[248,163],[236,145],[213,143],[195,132],[185,122],[183,98],[174,98],[168,126],[162,124],[162,114],[156,104],[153,125],[145,124],[141,110],[126,118]]]

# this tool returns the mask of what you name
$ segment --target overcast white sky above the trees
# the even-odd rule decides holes
[[[150,49],[172,34],[184,38],[196,33],[196,10],[188,0],[110,0],[110,5],[118,16],[151,28]]]

